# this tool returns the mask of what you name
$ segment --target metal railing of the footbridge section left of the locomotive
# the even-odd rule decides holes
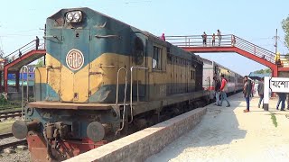
[[[22,57],[23,55],[27,54],[29,51],[33,49],[45,49],[44,40],[39,40],[38,47],[36,47],[36,40],[32,40],[29,43],[25,44],[20,49],[16,49],[14,52],[8,54],[3,58],[4,64],[8,64],[17,58]]]

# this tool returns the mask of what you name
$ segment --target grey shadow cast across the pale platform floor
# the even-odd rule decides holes
[[[174,157],[178,157],[182,152],[190,151],[187,148],[210,147],[216,145],[224,145],[231,143],[234,139],[244,139],[246,130],[238,129],[238,120],[235,109],[239,107],[246,108],[242,94],[234,94],[229,98],[230,107],[225,107],[227,103],[223,103],[222,107],[210,104],[207,106],[207,113],[203,116],[200,123],[188,133],[182,135],[169,144],[163,150],[146,159],[151,161],[169,161]],[[234,112],[235,111],[235,112]],[[195,152],[191,152],[194,154]]]

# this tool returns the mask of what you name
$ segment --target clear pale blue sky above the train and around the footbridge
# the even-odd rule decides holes
[[[277,29],[278,51],[284,54],[288,49],[281,22],[289,15],[288,6],[284,0],[9,0],[1,4],[0,48],[8,55],[36,35],[42,37],[46,18],[61,8],[89,7],[156,36],[212,34],[219,29],[271,51]],[[243,76],[266,68],[236,53],[200,56]]]

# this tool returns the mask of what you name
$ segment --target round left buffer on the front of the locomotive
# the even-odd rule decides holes
[[[27,136],[28,131],[36,130],[39,125],[39,121],[14,121],[12,125],[12,133],[16,139],[24,139]]]

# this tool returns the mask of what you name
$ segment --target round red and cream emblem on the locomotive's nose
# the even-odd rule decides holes
[[[71,49],[66,55],[66,65],[71,70],[79,70],[84,63],[84,57],[80,50]]]

